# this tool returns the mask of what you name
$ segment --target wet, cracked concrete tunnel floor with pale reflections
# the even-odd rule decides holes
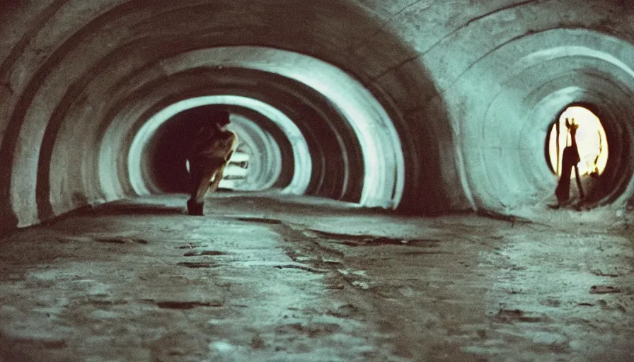
[[[115,202],[2,240],[0,361],[634,360],[630,214],[184,204]]]

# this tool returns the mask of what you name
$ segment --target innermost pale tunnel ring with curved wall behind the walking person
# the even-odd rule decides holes
[[[137,194],[161,193],[164,191],[189,192],[189,190],[185,189],[165,190],[153,185],[153,181],[156,177],[153,177],[150,174],[151,170],[146,170],[146,168],[154,163],[153,158],[161,156],[160,154],[156,155],[159,151],[162,151],[162,153],[180,153],[180,160],[178,160],[178,162],[180,162],[180,166],[183,169],[185,168],[184,151],[188,145],[188,141],[193,138],[197,131],[195,127],[189,126],[190,122],[194,119],[188,116],[187,113],[188,110],[204,108],[204,105],[238,105],[238,107],[233,107],[233,110],[240,113],[231,115],[230,127],[236,132],[240,142],[246,142],[250,148],[255,150],[255,154],[252,155],[249,166],[250,175],[253,177],[253,180],[247,182],[244,187],[238,187],[238,189],[263,190],[277,184],[278,187],[282,186],[284,189],[287,189],[287,192],[294,194],[304,194],[304,192],[306,192],[311,180],[311,153],[309,152],[308,144],[306,144],[306,139],[304,139],[299,128],[296,127],[291,119],[270,105],[236,95],[212,95],[190,98],[167,107],[165,110],[154,115],[149,121],[144,122],[141,129],[136,132],[132,144],[129,145],[130,150],[127,152],[129,155],[127,159],[127,169],[134,192]],[[240,106],[249,106],[249,108],[241,109]],[[251,112],[243,113],[244,110],[251,110]],[[255,122],[257,123],[246,117],[239,117],[245,113],[247,115],[250,113],[252,117],[255,116]],[[166,134],[162,134],[161,129],[165,128],[166,124],[169,127],[170,124],[168,123],[171,122],[172,119],[175,119],[175,122],[178,122],[178,124],[175,125],[176,127],[172,127],[174,129],[166,130]],[[267,129],[271,129],[272,132],[268,132]],[[261,134],[257,134],[258,131]],[[267,144],[267,139],[265,138],[267,136],[272,137],[274,134],[277,136],[277,139],[272,140],[272,144],[275,147],[271,147]],[[157,136],[163,136],[165,138],[163,141],[164,146],[157,145],[156,147],[152,147],[152,141],[154,141]],[[255,141],[255,137],[257,136],[261,138],[259,144]],[[180,137],[184,137],[185,139],[179,139]],[[287,145],[284,149],[284,154],[286,154],[287,157],[284,159],[282,159],[282,151],[278,145]],[[104,154],[108,153],[105,152]],[[255,158],[255,160],[253,160],[253,158]],[[163,162],[162,160],[158,161],[159,163]],[[284,182],[284,185],[279,184],[279,179],[282,177],[282,168],[285,174],[284,176],[286,176],[284,179],[288,180],[288,182]],[[101,171],[103,179],[108,177],[108,175],[112,175],[115,171],[116,170],[104,168]],[[182,172],[183,170],[180,171]],[[258,175],[260,173],[264,173],[265,175]],[[188,177],[183,175],[182,178],[183,180],[179,182],[180,185],[186,185],[186,179]],[[114,182],[117,182],[117,180]],[[113,195],[113,197],[116,197],[116,195]]]

